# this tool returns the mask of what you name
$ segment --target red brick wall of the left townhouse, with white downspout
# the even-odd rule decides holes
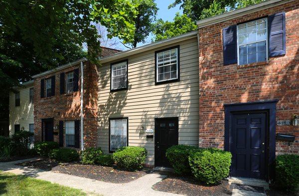
[[[60,95],[60,73],[70,72],[79,68],[79,90],[71,94]],[[40,98],[40,80],[55,75],[55,96]],[[97,113],[97,69],[95,65],[88,62],[84,63],[84,98],[83,98],[83,116],[84,116],[84,136],[86,145],[94,146],[96,141],[96,123]],[[34,80],[34,135],[35,141],[41,141],[41,119],[53,118],[54,127],[59,127],[59,121],[80,120],[80,93],[81,90],[81,69],[80,63],[66,69],[36,78]],[[94,131],[95,130],[95,131]],[[58,131],[58,129],[54,129]],[[95,133],[93,133],[95,132]],[[65,132],[64,132],[65,133]],[[80,132],[81,133],[81,132]],[[65,138],[65,137],[64,137]],[[81,137],[80,137],[81,138]],[[54,135],[54,141],[59,142],[59,135]],[[80,141],[81,144],[81,141]],[[65,144],[64,144],[65,145]]]

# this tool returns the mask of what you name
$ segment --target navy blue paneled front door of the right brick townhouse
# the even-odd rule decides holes
[[[231,175],[266,179],[267,114],[235,113],[231,120]]]

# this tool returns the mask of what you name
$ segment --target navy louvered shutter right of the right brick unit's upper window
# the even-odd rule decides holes
[[[286,54],[286,13],[280,12],[268,18],[269,57]]]

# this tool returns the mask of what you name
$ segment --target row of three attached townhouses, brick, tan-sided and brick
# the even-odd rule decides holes
[[[35,141],[105,153],[143,146],[149,167],[168,166],[171,145],[216,147],[232,153],[230,176],[274,178],[276,155],[299,153],[299,1],[268,0],[197,25],[106,52],[100,67],[80,59],[33,76]]]

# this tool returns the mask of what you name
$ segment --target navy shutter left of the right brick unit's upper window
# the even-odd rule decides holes
[[[222,29],[222,35],[224,65],[237,63],[237,25]]]

